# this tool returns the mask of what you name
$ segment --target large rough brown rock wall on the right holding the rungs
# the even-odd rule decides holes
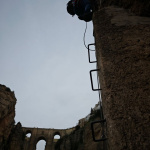
[[[114,6],[93,16],[108,149],[150,148],[150,18]]]

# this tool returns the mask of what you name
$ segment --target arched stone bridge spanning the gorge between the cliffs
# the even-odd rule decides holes
[[[59,135],[62,138],[65,135],[70,134],[75,128],[69,129],[45,129],[45,128],[26,128],[23,127],[25,135],[31,134],[30,138],[26,137],[24,143],[24,150],[36,150],[36,145],[40,140],[46,142],[45,150],[54,150],[56,140],[55,135]]]

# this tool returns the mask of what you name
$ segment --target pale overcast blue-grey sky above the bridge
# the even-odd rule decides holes
[[[98,102],[91,90],[85,22],[68,0],[0,1],[0,83],[15,91],[15,121],[25,127],[70,128]],[[88,23],[86,43],[93,43]]]

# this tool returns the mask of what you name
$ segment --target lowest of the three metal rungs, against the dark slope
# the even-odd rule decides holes
[[[96,138],[95,138],[95,134],[94,134],[94,124],[96,124],[96,123],[104,124],[104,122],[106,122],[106,119],[104,119],[104,120],[99,120],[99,121],[94,121],[94,122],[91,123],[92,137],[93,137],[93,141],[94,141],[94,142],[100,142],[100,141],[105,141],[105,140],[107,140],[107,138],[106,138],[106,136],[104,135],[104,133],[103,133],[101,139],[96,139]]]

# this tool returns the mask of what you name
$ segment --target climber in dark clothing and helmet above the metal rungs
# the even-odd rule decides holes
[[[80,20],[89,22],[92,20],[92,5],[90,0],[70,0],[67,3],[67,12],[74,16],[78,16]]]

